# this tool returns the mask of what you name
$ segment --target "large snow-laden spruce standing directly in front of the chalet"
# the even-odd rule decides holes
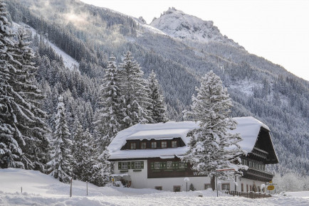
[[[197,95],[192,96],[192,111],[185,116],[199,121],[199,128],[187,135],[189,151],[183,160],[201,175],[213,176],[216,169],[243,168],[239,158],[243,152],[237,144],[241,137],[229,133],[236,128],[236,121],[231,119],[231,98],[222,87],[220,77],[208,72],[196,91]],[[228,176],[229,173],[221,173],[221,178]]]

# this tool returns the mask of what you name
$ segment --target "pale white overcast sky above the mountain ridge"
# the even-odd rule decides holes
[[[184,13],[214,21],[249,53],[309,80],[309,1],[306,0],[81,0],[150,23],[174,6]]]

